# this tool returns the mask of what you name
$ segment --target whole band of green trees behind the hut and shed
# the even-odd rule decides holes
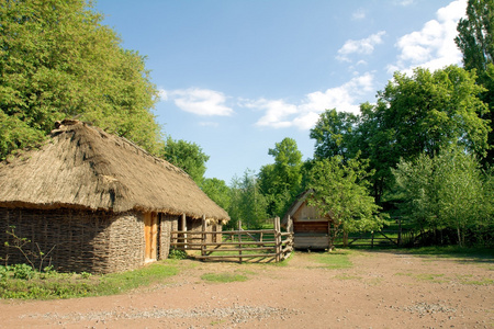
[[[321,114],[312,159],[287,137],[267,150],[272,163],[229,183],[204,178],[200,145],[162,136],[145,57],[122,47],[91,2],[0,3],[2,160],[40,146],[56,121],[78,118],[182,168],[228,212],[231,227],[260,227],[313,189],[312,203],[338,230],[379,229],[391,214],[420,232],[453,232],[446,242],[493,243],[492,0],[470,0],[458,24],[463,67],[395,72],[359,115]]]

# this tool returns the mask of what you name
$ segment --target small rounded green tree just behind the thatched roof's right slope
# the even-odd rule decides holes
[[[202,184],[206,171],[205,162],[210,156],[205,155],[195,143],[168,137],[160,150],[160,157],[183,169],[198,185]]]

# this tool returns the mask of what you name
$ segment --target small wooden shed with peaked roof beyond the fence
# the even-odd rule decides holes
[[[315,206],[307,204],[307,198],[313,193],[314,190],[307,190],[296,196],[281,220],[281,225],[287,226],[289,218],[292,219],[294,247],[296,249],[329,248],[332,218],[328,214],[319,214]]]

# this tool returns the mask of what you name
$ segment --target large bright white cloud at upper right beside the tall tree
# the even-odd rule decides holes
[[[461,63],[461,52],[454,44],[458,21],[464,16],[467,0],[452,1],[440,8],[437,20],[428,21],[420,31],[398,38],[400,49],[396,64],[389,65],[388,71],[412,71],[418,66],[436,70],[451,64]]]

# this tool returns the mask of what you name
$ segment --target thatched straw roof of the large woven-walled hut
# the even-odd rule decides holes
[[[0,206],[229,219],[181,169],[78,121],[64,121],[41,149],[0,163]]]

